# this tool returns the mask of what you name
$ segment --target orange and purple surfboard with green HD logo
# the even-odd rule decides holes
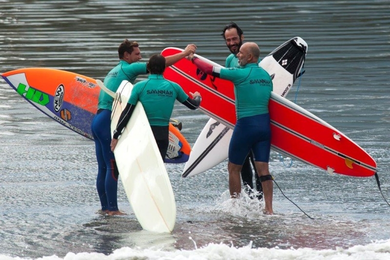
[[[23,68],[1,76],[36,109],[93,140],[91,123],[100,93],[95,79],[49,68]],[[190,144],[172,124],[170,136],[170,157],[165,162],[185,163],[191,152]]]

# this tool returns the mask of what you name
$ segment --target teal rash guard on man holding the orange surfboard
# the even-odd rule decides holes
[[[128,80],[130,83],[134,84],[138,75],[148,74],[146,64],[146,62],[128,63],[125,60],[120,60],[118,65],[115,66],[104,78],[104,85],[109,90],[117,92],[117,89],[123,80]],[[98,109],[111,110],[113,101],[114,98],[101,90],[98,99]]]

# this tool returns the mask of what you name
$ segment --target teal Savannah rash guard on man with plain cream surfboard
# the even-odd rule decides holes
[[[148,79],[134,85],[128,103],[141,101],[151,126],[168,126],[175,100],[186,101],[188,95],[175,82],[161,74],[150,74]]]

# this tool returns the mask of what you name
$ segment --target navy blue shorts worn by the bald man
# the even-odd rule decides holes
[[[271,150],[269,113],[242,117],[237,120],[229,145],[229,162],[243,165],[251,149],[254,161],[269,162]]]

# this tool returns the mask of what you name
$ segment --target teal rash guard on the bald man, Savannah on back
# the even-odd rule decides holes
[[[219,76],[234,83],[237,120],[268,113],[273,83],[270,75],[258,64],[248,63],[240,68],[221,68]]]

